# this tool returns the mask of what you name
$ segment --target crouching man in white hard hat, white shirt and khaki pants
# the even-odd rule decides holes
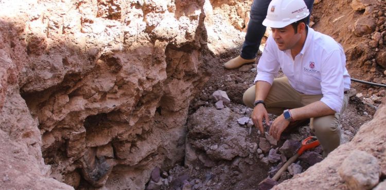
[[[252,120],[264,132],[268,113],[278,117],[269,134],[279,139],[293,121],[310,119],[324,155],[340,144],[339,118],[350,88],[346,57],[332,37],[306,25],[309,10],[303,0],[273,0],[262,22],[272,29],[257,65],[255,85],[243,94],[253,108]],[[277,78],[279,69],[286,77]]]

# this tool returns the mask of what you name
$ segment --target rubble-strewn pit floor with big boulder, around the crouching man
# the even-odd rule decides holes
[[[231,55],[237,55],[237,52]],[[270,143],[267,140],[269,138],[260,138],[264,136],[251,122],[248,123],[252,109],[241,103],[242,93],[252,85],[256,65],[224,70],[221,63],[227,59],[229,56],[224,55],[224,58],[208,60],[217,62],[218,66],[210,68],[212,77],[190,106],[185,162],[162,171],[161,189],[190,189],[188,186],[191,189],[255,189],[260,181],[268,175],[272,177],[283,162],[294,154],[293,149],[297,147],[289,147],[290,150],[281,148],[287,140],[287,144],[297,146],[299,144],[293,142],[300,143],[312,135],[309,126],[305,125],[284,135],[277,145],[275,142]],[[213,93],[217,90],[225,91],[230,99],[230,103],[224,103],[224,108],[216,105],[218,101]],[[359,127],[372,119],[376,106],[379,106],[378,99],[372,99],[372,103],[363,103],[364,97],[360,95],[362,92],[358,91],[365,90],[352,89],[350,93],[349,105],[341,118],[342,143],[350,141]],[[240,124],[245,117],[245,124]],[[271,120],[274,118],[274,115],[270,115]],[[291,169],[282,174],[278,182],[320,162],[323,159],[321,153],[320,146],[306,151]],[[150,180],[152,183],[153,180]],[[151,185],[148,189],[152,189]]]

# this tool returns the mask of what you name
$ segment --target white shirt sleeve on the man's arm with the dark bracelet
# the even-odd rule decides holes
[[[272,85],[273,79],[277,77],[280,64],[276,56],[276,43],[272,36],[267,39],[266,46],[257,64],[257,75],[254,83],[257,81],[266,81]]]

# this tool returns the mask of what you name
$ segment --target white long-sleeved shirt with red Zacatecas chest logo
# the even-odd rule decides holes
[[[303,49],[293,60],[291,50],[279,50],[270,35],[254,82],[266,81],[272,85],[280,68],[295,90],[303,94],[323,94],[321,101],[340,112],[343,92],[349,90],[351,82],[343,48],[332,37],[308,27]]]

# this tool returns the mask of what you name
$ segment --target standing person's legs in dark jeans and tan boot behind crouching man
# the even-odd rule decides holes
[[[311,11],[314,0],[304,0],[307,8]],[[226,69],[235,69],[246,63],[256,61],[256,53],[260,46],[261,38],[266,32],[266,26],[262,21],[266,18],[268,5],[271,0],[254,0],[250,11],[250,20],[248,22],[247,34],[242,45],[241,53],[236,58],[226,62]],[[311,15],[311,14],[310,14]],[[309,23],[310,15],[307,16],[306,24]]]

